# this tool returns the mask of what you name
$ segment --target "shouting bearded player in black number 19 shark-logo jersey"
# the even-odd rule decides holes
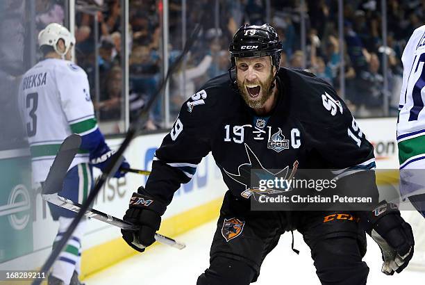
[[[374,153],[328,83],[308,72],[279,67],[281,42],[272,26],[242,26],[229,51],[235,72],[211,79],[190,97],[156,150],[147,184],[133,194],[124,215],[124,220],[140,225],[140,231],[123,230],[124,240],[140,252],[151,245],[174,192],[190,181],[201,159],[212,152],[228,191],[210,267],[197,284],[255,282],[263,259],[281,234],[294,229],[310,247],[322,284],[366,284],[365,232],[383,251],[383,272],[401,272],[413,254],[412,231],[399,211],[385,202],[376,211],[349,213],[251,211],[249,201],[256,195],[249,183],[251,169],[321,168],[349,173],[373,169]],[[367,173],[360,182],[344,185],[377,200],[374,174]],[[356,218],[324,222],[337,214]]]

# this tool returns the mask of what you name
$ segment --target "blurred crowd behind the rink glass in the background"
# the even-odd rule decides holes
[[[69,23],[67,0],[32,2],[3,0],[0,5],[25,11],[28,5],[35,5],[38,31],[50,22]],[[197,23],[202,26],[200,38],[173,74],[165,97],[153,106],[145,129],[169,127],[183,101],[208,79],[227,72],[228,44],[244,23],[274,25],[284,47],[281,66],[308,69],[331,83],[353,115],[397,115],[401,53],[412,31],[425,19],[425,0],[129,0],[128,104],[124,104],[122,3],[76,0],[75,7],[76,63],[88,73],[97,118],[105,133],[125,131],[124,113],[129,114],[130,122],[134,120],[158,90],[165,74],[164,46],[169,66]],[[168,7],[167,44],[164,3]],[[7,27],[14,19],[0,17],[0,22]],[[0,57],[4,52],[0,51]],[[23,66],[24,70],[30,67]]]

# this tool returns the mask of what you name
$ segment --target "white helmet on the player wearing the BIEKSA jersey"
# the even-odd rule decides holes
[[[58,40],[60,39],[63,39],[63,41],[65,42],[65,51],[63,53],[58,51],[57,47]],[[68,29],[65,28],[65,26],[62,26],[57,23],[48,24],[44,30],[38,33],[38,46],[51,46],[60,56],[65,56],[65,54],[67,54],[69,48],[71,47],[71,44],[75,45],[74,35],[69,33]]]

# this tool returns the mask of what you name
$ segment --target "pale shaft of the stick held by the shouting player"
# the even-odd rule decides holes
[[[78,213],[81,210],[81,204],[76,202],[72,202],[69,199],[64,197],[60,197],[57,194],[47,194],[43,195],[43,199],[47,202],[55,204],[56,206],[60,206],[61,208],[68,209],[70,211]],[[139,227],[137,225],[133,225],[129,222],[121,220],[119,218],[115,218],[112,215],[107,213],[103,213],[101,211],[97,211],[95,209],[91,209],[90,211],[86,211],[85,216],[89,218],[94,218],[96,220],[100,220],[101,222],[106,222],[109,225],[113,225],[115,227],[119,227],[121,229],[132,229],[138,230]],[[167,236],[163,236],[162,234],[155,234],[155,240],[158,243],[163,243],[164,245],[169,245],[171,247],[176,247],[179,250],[183,250],[186,247],[184,243],[174,240],[173,238],[169,238]]]

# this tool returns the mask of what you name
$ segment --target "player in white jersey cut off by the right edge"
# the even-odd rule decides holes
[[[397,122],[400,193],[425,218],[425,26],[413,31],[401,61],[403,86]]]

